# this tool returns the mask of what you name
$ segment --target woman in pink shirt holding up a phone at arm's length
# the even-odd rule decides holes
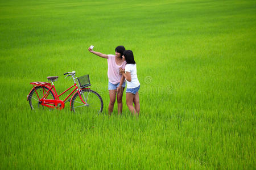
[[[101,58],[108,59],[108,78],[109,78],[109,114],[113,112],[113,107],[115,104],[115,98],[117,98],[117,109],[118,114],[122,113],[123,108],[123,90],[125,89],[125,78],[119,73],[119,68],[125,69],[126,61],[123,61],[122,56],[125,51],[124,46],[117,46],[115,48],[115,55],[112,54],[102,54],[100,52],[94,52],[91,48],[88,49],[89,52],[96,54]]]

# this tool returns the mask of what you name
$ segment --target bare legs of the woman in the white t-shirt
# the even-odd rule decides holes
[[[131,113],[133,113],[135,116],[139,115],[140,105],[138,92],[135,95],[132,93],[126,93],[126,104]]]

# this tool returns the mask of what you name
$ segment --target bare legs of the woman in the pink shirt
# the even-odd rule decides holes
[[[113,112],[114,104],[115,104],[115,98],[117,98],[117,110],[118,114],[122,113],[123,109],[123,102],[122,102],[122,97],[123,97],[123,90],[124,88],[121,87],[121,90],[118,94],[116,94],[115,90],[109,90],[109,115]]]

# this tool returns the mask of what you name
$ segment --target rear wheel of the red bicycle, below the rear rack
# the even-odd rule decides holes
[[[36,86],[31,90],[27,100],[32,110],[46,108],[43,105],[41,105],[39,99],[42,99],[42,97],[46,94],[48,90],[49,88],[45,86]],[[49,91],[47,99],[55,99],[55,96],[53,95],[52,91]]]

